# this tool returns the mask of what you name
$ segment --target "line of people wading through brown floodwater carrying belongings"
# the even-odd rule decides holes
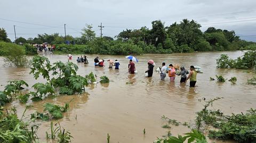
[[[87,56],[81,56],[77,58],[77,62],[84,62],[85,64],[88,64],[88,60],[87,60]],[[94,58],[94,66],[100,66],[103,67],[105,60],[99,60],[99,57],[97,56],[96,58]],[[108,68],[112,69],[113,66],[115,66],[116,70],[119,70],[119,65],[120,63],[118,62],[118,60],[107,60],[107,62],[109,63]],[[149,60],[148,61],[148,70],[145,71],[146,76],[147,77],[152,77],[153,76],[153,71],[154,71],[154,67],[156,66],[156,64],[154,63],[153,60]],[[128,72],[130,74],[134,74],[137,73],[136,68],[135,68],[135,63],[130,60],[129,64],[128,64]],[[190,66],[190,71],[186,70],[185,66],[181,66],[179,68],[179,66],[173,66],[173,64],[170,64],[168,67],[165,65],[165,63],[162,63],[162,67],[159,67],[156,69],[156,72],[160,73],[160,78],[161,80],[165,80],[166,78],[166,74],[169,76],[170,81],[173,82],[175,80],[176,75],[180,75],[181,79],[180,82],[181,83],[186,83],[187,80],[190,80],[189,85],[190,87],[195,87],[196,85],[196,77],[197,77],[197,70],[195,68],[195,66],[191,65]]]

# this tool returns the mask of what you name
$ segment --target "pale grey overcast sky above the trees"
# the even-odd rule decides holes
[[[66,23],[67,34],[76,37],[85,23],[92,24],[99,36],[102,22],[103,36],[114,37],[126,28],[151,29],[154,20],[170,26],[187,18],[199,22],[202,31],[208,27],[235,30],[242,39],[256,41],[254,0],[0,0],[0,5],[0,27],[11,40],[13,25],[17,37],[34,38],[37,33],[64,35]]]

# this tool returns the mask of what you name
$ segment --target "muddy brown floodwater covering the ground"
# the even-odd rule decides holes
[[[189,132],[190,129],[179,125],[172,126],[171,129],[164,129],[165,122],[162,115],[179,122],[192,122],[195,113],[203,108],[203,103],[198,99],[206,100],[215,97],[224,97],[214,102],[213,108],[220,109],[226,114],[246,112],[249,108],[256,108],[256,86],[247,85],[246,81],[255,76],[254,73],[245,73],[244,70],[217,69],[215,59],[222,53],[228,54],[232,58],[243,55],[243,52],[210,52],[210,53],[189,53],[170,55],[142,55],[137,56],[139,63],[136,63],[137,74],[127,73],[128,60],[124,56],[109,55],[87,55],[89,64],[78,63],[78,74],[86,75],[91,71],[97,75],[97,80],[102,75],[107,75],[109,84],[90,85],[82,95],[59,96],[47,98],[41,102],[32,103],[34,107],[28,108],[26,116],[29,119],[30,113],[43,111],[44,103],[54,103],[64,105],[70,102],[70,111],[64,114],[63,119],[58,120],[63,128],[71,132],[74,137],[72,142],[107,142],[107,133],[110,134],[110,142],[153,142],[157,137],[166,135],[171,131],[173,136]],[[73,56],[76,63],[78,55]],[[99,56],[101,59],[118,59],[121,63],[120,70],[94,67],[93,59]],[[67,61],[67,55],[46,55],[51,61]],[[3,65],[3,58],[0,64]],[[180,85],[180,77],[176,77],[175,82],[160,80],[160,75],[154,72],[153,78],[146,78],[147,61],[154,60],[156,69],[162,62],[185,65],[189,69],[190,65],[201,66],[201,74],[197,74],[195,88],[189,88],[189,83]],[[44,82],[43,78],[35,80],[29,74],[30,69],[0,68],[1,81],[0,90],[4,89],[9,80],[25,80],[29,84],[29,90],[36,82]],[[225,78],[237,77],[236,85],[227,81],[217,83],[210,81],[210,77],[215,78],[215,74],[221,74]],[[127,84],[128,83],[128,84]],[[21,116],[25,110],[25,105],[14,101],[6,107],[16,106],[18,115]],[[77,116],[77,118],[76,118]],[[57,121],[54,121],[56,123]],[[50,121],[36,121],[40,126],[38,136],[41,141],[46,142],[45,131],[50,131]],[[193,125],[193,124],[192,124]],[[144,135],[142,130],[146,129]],[[210,142],[213,142],[211,140]],[[217,141],[221,142],[221,141]],[[226,141],[227,142],[227,141]]]

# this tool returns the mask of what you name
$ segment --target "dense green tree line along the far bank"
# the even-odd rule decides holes
[[[35,38],[19,37],[14,42],[42,44],[56,44],[59,51],[83,52],[88,54],[143,54],[143,53],[187,53],[194,51],[234,51],[245,49],[249,45],[255,45],[236,36],[234,30],[222,30],[209,27],[206,31],[202,31],[201,24],[188,19],[183,19],[180,23],[173,23],[170,26],[164,26],[164,22],[156,20],[151,22],[151,29],[141,27],[140,29],[126,29],[118,33],[117,36],[99,38],[92,25],[86,24],[82,28],[81,37],[66,36],[70,45],[65,44],[65,37],[59,33],[52,35],[37,35]],[[4,34],[4,29],[0,29],[0,40],[10,42],[10,39]],[[5,32],[6,33],[6,32]],[[58,45],[61,44],[61,45]],[[77,47],[77,48],[76,48]],[[70,49],[67,49],[70,48]],[[114,52],[113,52],[114,51]]]

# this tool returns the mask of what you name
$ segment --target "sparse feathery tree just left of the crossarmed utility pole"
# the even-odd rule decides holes
[[[93,39],[95,39],[95,32],[92,30],[92,25],[90,24],[85,24],[86,27],[83,27],[82,29],[82,40],[84,43],[86,43],[87,41],[91,41]]]

